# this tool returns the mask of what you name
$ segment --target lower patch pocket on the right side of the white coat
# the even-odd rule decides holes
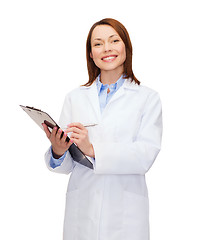
[[[149,239],[149,201],[147,197],[125,191],[123,218],[125,240]]]

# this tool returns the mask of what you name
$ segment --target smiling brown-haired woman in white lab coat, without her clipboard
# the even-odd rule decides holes
[[[64,240],[148,240],[145,173],[160,151],[159,95],[135,78],[128,32],[114,19],[92,26],[87,66],[89,81],[65,98],[59,122],[64,136],[44,125],[52,144],[48,168],[71,173]],[[73,161],[72,143],[93,161],[93,170]]]

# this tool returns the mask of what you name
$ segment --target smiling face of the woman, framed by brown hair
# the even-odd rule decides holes
[[[91,36],[91,58],[102,71],[123,73],[126,48],[119,34],[108,25],[96,26]]]

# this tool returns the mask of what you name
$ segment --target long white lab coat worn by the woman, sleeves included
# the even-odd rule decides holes
[[[161,102],[157,92],[127,79],[100,112],[96,83],[70,92],[60,126],[98,124],[88,129],[95,151],[94,170],[75,163],[67,152],[52,169],[71,173],[64,240],[148,240],[149,206],[145,173],[160,151]]]

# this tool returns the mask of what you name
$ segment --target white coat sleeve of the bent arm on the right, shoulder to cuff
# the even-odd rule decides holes
[[[132,142],[93,142],[97,174],[142,174],[152,166],[161,148],[162,109],[158,93],[146,101],[137,137]]]

